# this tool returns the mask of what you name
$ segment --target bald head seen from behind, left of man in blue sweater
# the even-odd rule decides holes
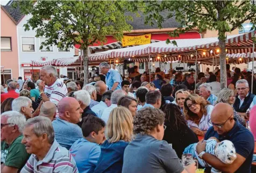
[[[41,116],[47,117],[53,121],[56,117],[56,105],[53,102],[44,102],[40,109]]]

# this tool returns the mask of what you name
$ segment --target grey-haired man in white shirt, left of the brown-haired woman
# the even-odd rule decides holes
[[[110,115],[110,112],[117,107],[117,103],[118,103],[118,100],[120,99],[120,97],[122,96],[125,96],[127,95],[126,92],[124,92],[122,89],[118,89],[116,91],[114,91],[111,95],[111,106],[106,108],[103,113],[102,113],[102,116],[101,116],[101,119],[103,119],[103,121],[105,123],[108,122],[109,120],[109,115]]]

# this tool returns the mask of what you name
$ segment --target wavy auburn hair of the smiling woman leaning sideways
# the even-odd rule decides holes
[[[197,94],[188,95],[188,97],[185,99],[183,112],[184,112],[184,116],[186,117],[186,120],[191,120],[193,122],[200,122],[200,118],[198,117],[198,115],[192,112],[188,108],[188,105],[187,105],[188,100],[190,100],[192,103],[200,104],[200,107],[201,107],[200,111],[203,113],[203,115],[207,114],[206,106],[207,104],[210,104],[210,102],[206,101],[203,97]]]

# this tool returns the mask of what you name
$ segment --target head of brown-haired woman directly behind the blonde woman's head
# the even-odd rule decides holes
[[[136,115],[137,109],[137,100],[130,96],[120,97],[117,106],[123,106],[130,110],[132,117]]]

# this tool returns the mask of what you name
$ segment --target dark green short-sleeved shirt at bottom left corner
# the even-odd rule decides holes
[[[24,167],[30,154],[26,152],[25,145],[22,144],[23,136],[20,135],[12,144],[8,145],[5,141],[1,142],[1,162],[5,166],[15,167],[19,170]]]

